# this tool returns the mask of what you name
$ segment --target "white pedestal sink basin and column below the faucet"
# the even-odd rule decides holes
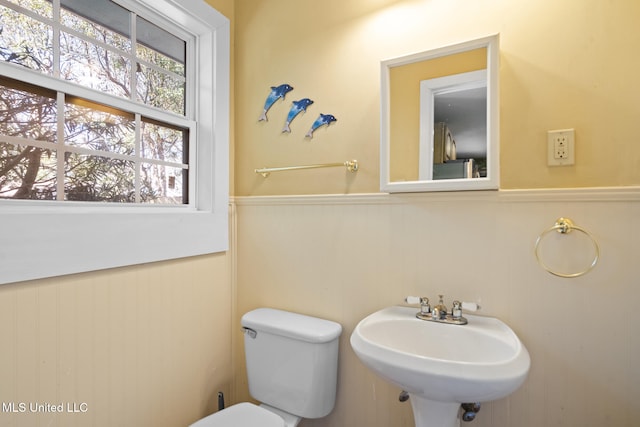
[[[416,427],[458,427],[462,403],[503,398],[524,382],[529,353],[493,317],[465,314],[467,325],[420,320],[411,307],[364,318],[351,347],[369,369],[406,390]]]

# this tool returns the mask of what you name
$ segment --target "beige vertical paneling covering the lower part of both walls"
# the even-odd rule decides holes
[[[88,409],[4,411],[0,425],[188,425],[215,410],[232,365],[227,400],[248,398],[239,316],[273,306],[344,328],[336,408],[303,426],[410,427],[400,390],[359,362],[349,337],[367,313],[438,292],[481,299],[531,353],[522,388],[484,404],[474,425],[634,425],[638,201],[476,198],[471,215],[464,197],[367,200],[240,200],[233,318],[226,255],[0,287],[0,401]],[[598,266],[577,279],[551,276],[533,257],[537,235],[563,215],[601,245]]]

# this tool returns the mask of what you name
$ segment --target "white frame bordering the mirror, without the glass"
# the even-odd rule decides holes
[[[487,176],[472,179],[391,181],[390,69],[481,48],[487,49]],[[388,193],[409,193],[424,191],[497,190],[500,187],[499,66],[499,36],[497,34],[381,62],[380,191]],[[429,149],[432,150],[432,147],[433,145]],[[422,152],[423,150],[424,148],[421,147],[420,151]],[[432,155],[429,157],[432,157]]]

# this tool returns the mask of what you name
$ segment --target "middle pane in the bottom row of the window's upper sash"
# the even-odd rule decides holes
[[[130,61],[71,34],[60,34],[60,76],[92,89],[129,98]]]

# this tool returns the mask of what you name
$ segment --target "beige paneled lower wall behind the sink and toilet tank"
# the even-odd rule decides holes
[[[271,306],[344,328],[335,410],[301,427],[412,427],[400,389],[360,363],[349,337],[367,314],[406,295],[440,293],[449,306],[480,302],[481,313],[509,324],[531,355],[524,385],[484,403],[470,425],[638,425],[637,191],[505,193],[237,200],[238,316]],[[600,244],[600,261],[582,277],[561,279],[536,263],[537,236],[560,216]],[[543,248],[545,262],[560,268],[556,254],[564,272],[591,262],[591,243],[578,232],[550,235]],[[240,341],[236,349],[241,355]],[[241,359],[235,381],[237,399],[248,398]]]

